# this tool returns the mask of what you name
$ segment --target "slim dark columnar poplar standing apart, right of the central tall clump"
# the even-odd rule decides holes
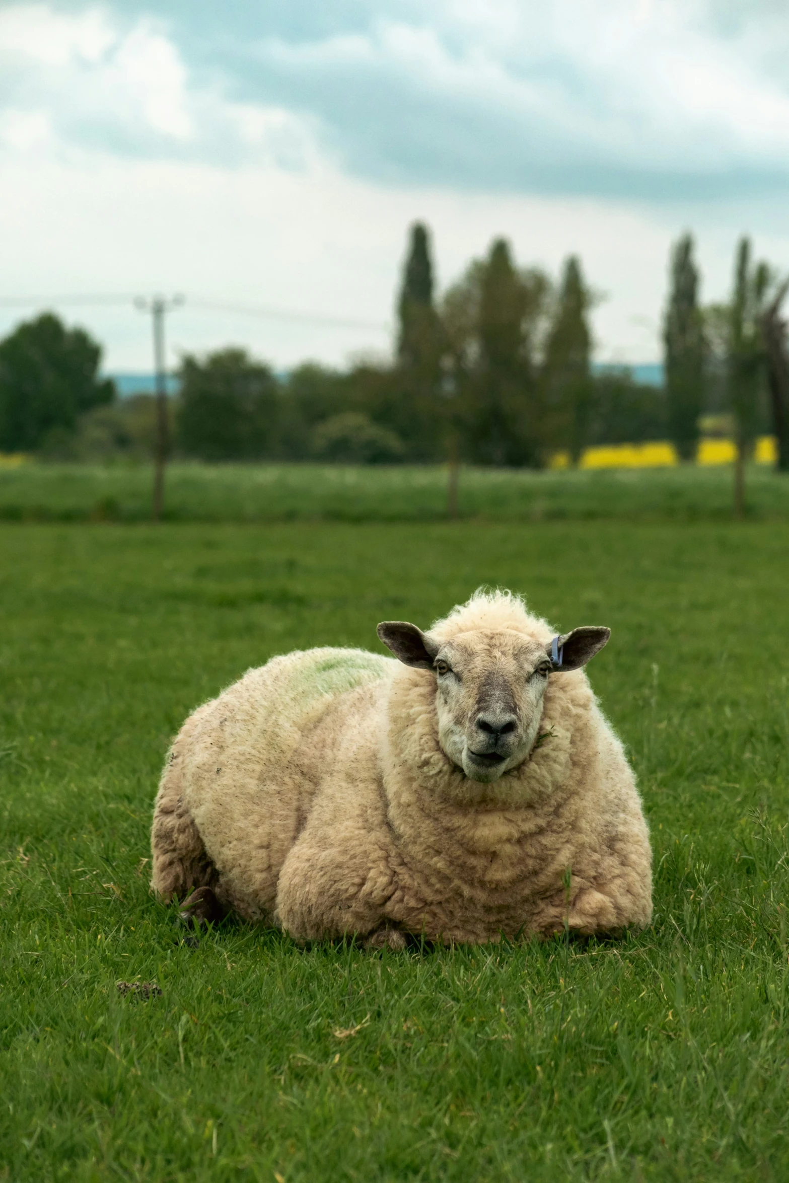
[[[683,460],[693,460],[704,407],[704,318],[693,239],[684,234],[671,258],[671,292],[664,323],[668,437]]]

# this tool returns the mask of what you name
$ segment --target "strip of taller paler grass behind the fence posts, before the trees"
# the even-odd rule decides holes
[[[435,522],[446,517],[441,467],[174,464],[166,517],[177,522]],[[145,466],[30,464],[0,467],[0,521],[150,517]],[[789,519],[789,477],[748,473],[749,515]],[[570,518],[731,518],[729,467],[535,472],[464,468],[460,515],[509,522]]]

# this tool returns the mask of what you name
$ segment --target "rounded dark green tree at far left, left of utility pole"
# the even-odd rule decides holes
[[[53,312],[20,324],[0,342],[0,451],[34,452],[53,433],[73,432],[83,412],[115,397],[99,380],[102,348]]]

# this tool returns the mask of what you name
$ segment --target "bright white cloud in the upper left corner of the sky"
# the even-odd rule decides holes
[[[53,129],[65,148],[119,155],[305,151],[309,121],[190,86],[177,46],[148,17],[129,25],[103,9],[64,15],[47,5],[12,5],[0,13],[0,72],[9,95],[6,140],[20,148],[32,142],[24,115],[31,129],[33,121]]]

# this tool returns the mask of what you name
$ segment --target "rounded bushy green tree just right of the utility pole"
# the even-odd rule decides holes
[[[201,460],[259,460],[276,453],[279,384],[244,349],[181,363],[179,447]]]

